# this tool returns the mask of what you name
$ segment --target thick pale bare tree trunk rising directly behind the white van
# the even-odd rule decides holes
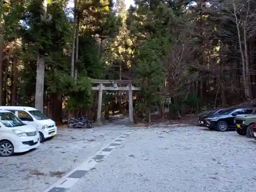
[[[47,0],[42,0],[42,22],[46,20]],[[38,50],[35,87],[35,108],[44,113],[44,86],[45,86],[45,50]]]

